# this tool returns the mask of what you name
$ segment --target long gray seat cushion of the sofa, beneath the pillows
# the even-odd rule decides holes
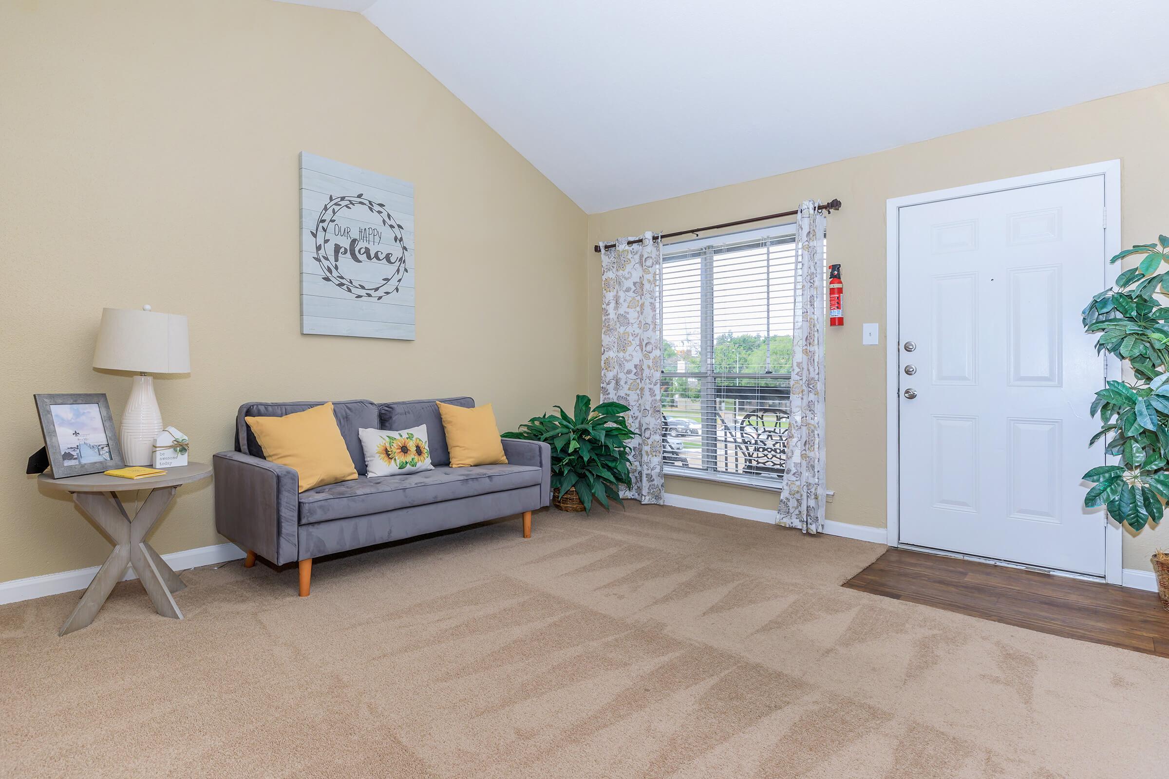
[[[392,479],[361,477],[300,493],[300,524],[538,486],[542,475],[531,465],[478,465],[438,466]]]

